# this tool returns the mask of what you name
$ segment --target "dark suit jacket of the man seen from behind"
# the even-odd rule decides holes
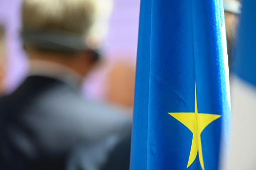
[[[84,100],[61,81],[28,77],[14,93],[0,98],[0,166],[64,169],[67,156],[80,144],[108,155],[131,127],[131,120],[119,111]],[[92,166],[97,169],[107,159],[92,160],[97,162]]]

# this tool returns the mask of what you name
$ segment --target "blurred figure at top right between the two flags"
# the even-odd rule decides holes
[[[241,13],[241,3],[238,0],[224,0],[223,4],[225,11],[228,62],[229,68],[231,70],[233,65],[236,31],[238,26],[239,14]]]

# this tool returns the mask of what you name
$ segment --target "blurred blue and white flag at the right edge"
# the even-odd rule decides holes
[[[244,0],[230,74],[232,132],[228,170],[256,169],[256,1]]]

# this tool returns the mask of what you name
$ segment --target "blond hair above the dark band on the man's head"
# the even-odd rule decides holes
[[[57,30],[88,34],[94,20],[92,0],[25,0],[23,31]]]

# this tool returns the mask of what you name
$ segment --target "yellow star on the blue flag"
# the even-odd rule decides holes
[[[201,133],[206,126],[218,119],[221,115],[198,113],[197,111],[197,93],[195,95],[195,113],[169,113],[174,118],[179,120],[182,124],[190,129],[193,133],[191,150],[189,155],[189,162],[187,168],[194,162],[197,151],[199,154],[199,161],[204,170],[204,160],[201,143]]]

